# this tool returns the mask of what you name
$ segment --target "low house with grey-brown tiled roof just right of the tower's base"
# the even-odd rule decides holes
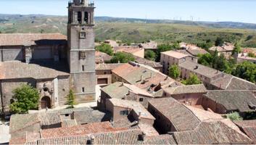
[[[130,85],[128,83],[115,82],[109,86],[101,88],[100,107],[106,108],[107,99],[124,99],[132,100],[141,103],[144,107],[147,107],[148,100],[154,96],[147,91],[138,88],[137,86]]]

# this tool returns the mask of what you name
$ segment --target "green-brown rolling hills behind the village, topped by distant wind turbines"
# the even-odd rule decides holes
[[[1,33],[63,33],[67,17],[49,15],[0,14]],[[201,43],[222,37],[256,47],[256,25],[241,22],[192,22],[96,17],[96,40],[118,39],[124,42],[154,40],[160,43],[186,41]]]

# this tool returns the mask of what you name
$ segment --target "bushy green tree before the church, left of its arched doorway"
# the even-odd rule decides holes
[[[22,85],[12,91],[15,99],[10,105],[13,113],[28,113],[29,109],[38,109],[39,93],[36,88],[30,85]]]

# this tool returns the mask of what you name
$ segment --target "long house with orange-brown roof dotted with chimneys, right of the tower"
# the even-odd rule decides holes
[[[129,62],[112,70],[112,83],[117,81],[138,86],[152,94],[165,86],[182,85],[152,67],[135,62]]]

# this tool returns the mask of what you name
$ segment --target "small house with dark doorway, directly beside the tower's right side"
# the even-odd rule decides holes
[[[96,82],[97,85],[108,85],[112,83],[112,70],[123,64],[97,64],[96,65]]]

